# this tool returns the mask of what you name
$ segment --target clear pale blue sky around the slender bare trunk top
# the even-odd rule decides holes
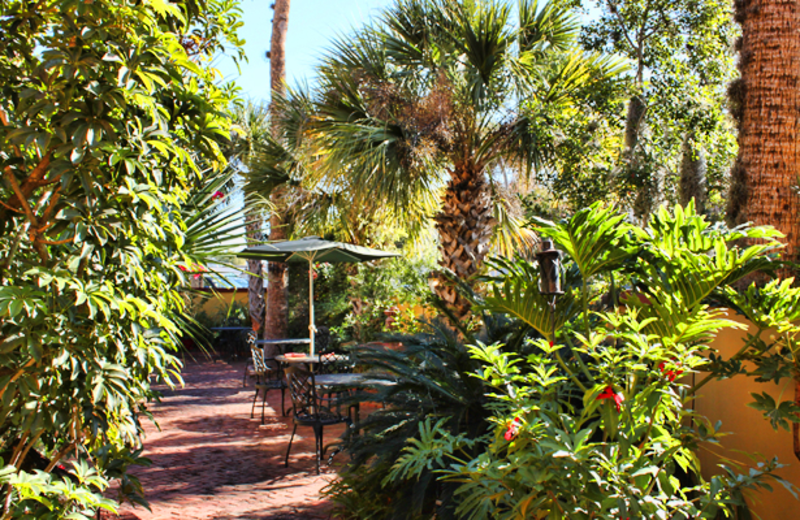
[[[363,25],[392,0],[291,0],[289,29],[286,38],[286,80],[290,85],[314,77],[314,65],[331,40],[353,27]],[[241,0],[244,27],[239,35],[247,43],[247,63],[241,75],[233,60],[222,59],[217,68],[226,80],[241,87],[245,98],[267,101],[269,98],[269,50],[272,34],[272,0]]]

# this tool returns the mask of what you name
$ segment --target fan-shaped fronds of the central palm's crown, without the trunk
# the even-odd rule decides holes
[[[548,114],[579,116],[583,95],[624,69],[583,52],[577,35],[561,2],[399,0],[333,42],[317,88],[278,100],[281,139],[257,150],[248,189],[301,183],[310,194],[302,225],[318,233],[395,227],[418,236],[442,211],[453,172],[467,168],[503,226],[495,245],[513,249],[530,236],[506,211],[495,168],[529,175],[549,165],[560,133]]]

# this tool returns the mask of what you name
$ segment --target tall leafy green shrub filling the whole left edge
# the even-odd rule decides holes
[[[150,378],[179,367],[178,289],[208,245],[185,208],[214,203],[203,172],[224,165],[235,93],[210,58],[241,57],[238,17],[233,0],[0,6],[3,518],[113,509],[116,478],[142,500],[126,469]]]

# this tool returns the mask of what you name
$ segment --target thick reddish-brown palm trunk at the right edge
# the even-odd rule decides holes
[[[775,226],[786,235],[784,258],[797,260],[800,205],[792,188],[800,173],[800,5],[742,0],[736,9],[742,25],[741,81],[734,99],[740,104],[739,155],[728,217],[733,224]]]

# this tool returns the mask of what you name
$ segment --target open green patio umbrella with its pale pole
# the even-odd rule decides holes
[[[270,262],[308,262],[308,293],[311,300],[308,304],[308,331],[311,339],[311,355],[313,356],[314,332],[316,331],[314,327],[314,262],[369,262],[370,260],[400,255],[354,244],[332,242],[312,236],[299,240],[287,240],[286,242],[248,247],[238,256],[268,260]]]

